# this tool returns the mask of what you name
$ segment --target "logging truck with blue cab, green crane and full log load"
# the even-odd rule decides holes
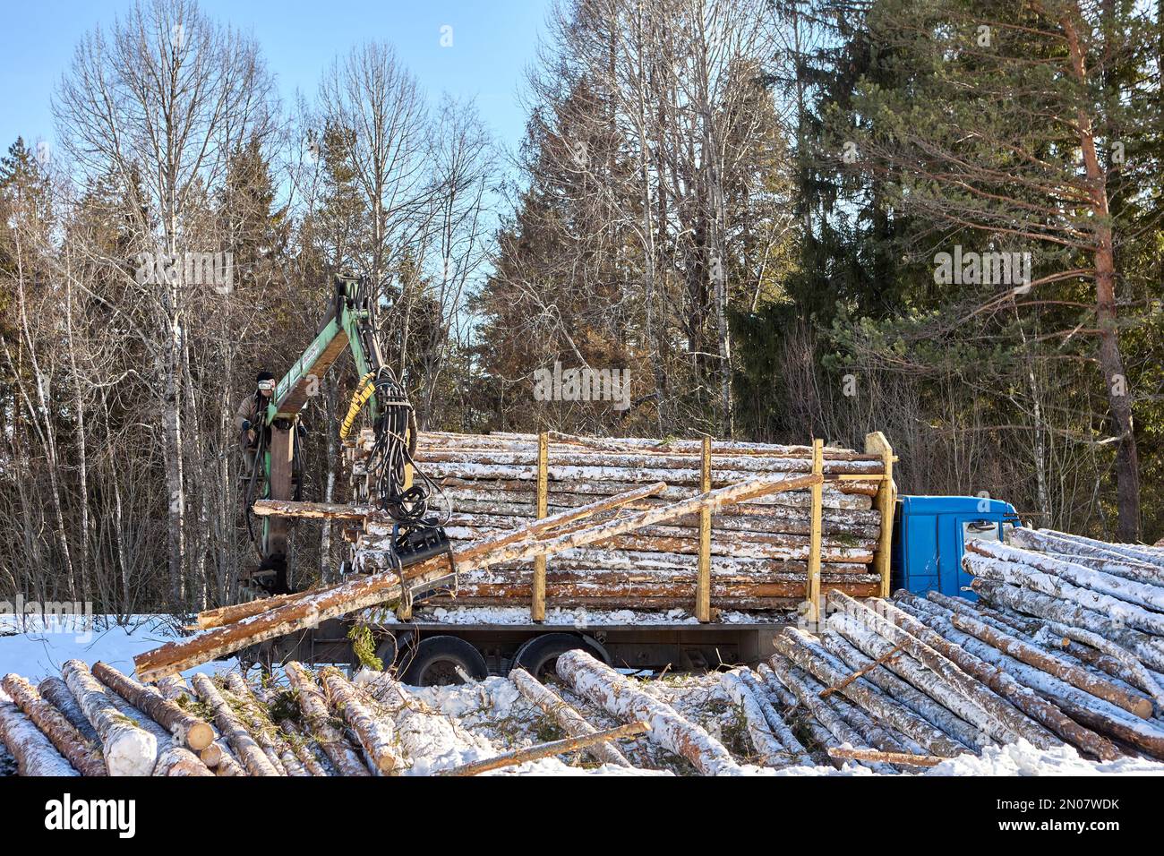
[[[244,579],[263,601],[199,616],[214,628],[223,610],[233,621],[268,611],[247,660],[378,659],[420,686],[513,666],[540,677],[572,649],[636,670],[755,663],[789,621],[818,621],[830,590],[958,593],[970,582],[966,540],[1018,525],[1014,508],[988,497],[897,497],[880,432],[864,451],[420,432],[382,355],[378,309],[364,281],[336,278],[329,314],[255,426],[244,504],[261,561]],[[350,500],[304,502],[300,412],[345,348],[360,376],[340,426]],[[352,433],[357,417],[367,426]],[[342,529],[352,558],[341,575],[370,582],[334,596],[293,590],[289,528],[312,518]],[[367,608],[385,603],[388,620],[369,620]],[[498,608],[504,621],[488,611]],[[248,628],[192,648],[237,650]],[[151,667],[169,673],[179,660]]]

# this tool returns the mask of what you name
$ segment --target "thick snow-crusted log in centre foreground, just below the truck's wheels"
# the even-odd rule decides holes
[[[739,765],[719,741],[667,705],[639,689],[605,663],[581,650],[558,658],[558,674],[580,694],[625,721],[641,720],[647,736],[687,758],[704,776],[734,774]]]

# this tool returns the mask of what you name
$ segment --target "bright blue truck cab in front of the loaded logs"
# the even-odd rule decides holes
[[[965,543],[1005,540],[1007,528],[1022,525],[1014,505],[978,496],[900,496],[893,517],[889,582],[893,590],[941,592],[977,599],[961,570]]]

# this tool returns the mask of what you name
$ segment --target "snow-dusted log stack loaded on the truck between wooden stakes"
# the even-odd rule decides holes
[[[363,475],[371,445],[349,445]],[[690,514],[549,560],[509,563],[462,573],[460,606],[528,604],[541,621],[551,608],[674,609],[710,621],[715,610],[775,610],[819,603],[822,592],[857,597],[888,594],[893,454],[880,433],[866,452],[753,443],[582,438],[542,434],[421,433],[419,469],[443,491],[446,531],[464,544],[530,519],[577,508],[651,482],[656,495],[629,508],[658,508],[711,488],[757,477],[818,473],[823,484],[750,500],[709,515]],[[439,504],[439,501],[434,504]],[[386,570],[374,545],[391,531],[367,519],[361,571]],[[452,596],[433,603],[452,601]]]

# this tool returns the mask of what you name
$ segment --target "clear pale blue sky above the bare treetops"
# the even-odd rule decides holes
[[[17,135],[55,139],[50,99],[73,47],[107,27],[130,0],[21,0],[5,3],[0,29],[0,150]],[[433,102],[440,93],[475,98],[509,147],[521,136],[524,70],[534,59],[548,0],[203,0],[211,17],[257,38],[284,104],[313,98],[320,72],[367,40],[390,42]],[[441,47],[452,27],[453,45]]]

